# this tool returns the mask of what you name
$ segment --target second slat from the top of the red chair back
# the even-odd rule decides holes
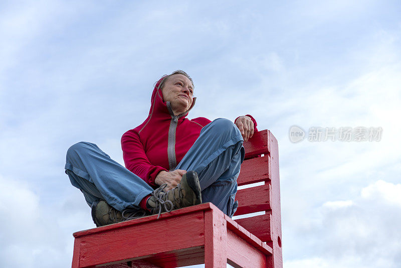
[[[270,180],[269,157],[253,158],[245,160],[241,165],[241,173],[238,176],[238,185],[262,182]]]

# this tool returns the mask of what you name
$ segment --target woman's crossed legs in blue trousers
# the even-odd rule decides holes
[[[177,169],[198,174],[203,202],[212,202],[232,216],[237,178],[244,159],[243,139],[237,126],[219,118],[205,126]],[[84,194],[88,205],[103,199],[123,211],[139,208],[153,189],[141,178],[112,160],[95,144],[80,142],[67,151],[66,174]]]

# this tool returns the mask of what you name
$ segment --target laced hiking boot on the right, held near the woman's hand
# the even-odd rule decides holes
[[[171,212],[173,209],[193,206],[202,203],[199,179],[196,172],[188,171],[182,176],[181,182],[168,192],[164,192],[167,184],[161,185],[151,193],[146,201],[146,207],[151,214]]]

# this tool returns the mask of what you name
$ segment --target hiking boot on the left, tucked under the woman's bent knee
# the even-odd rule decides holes
[[[148,213],[141,208],[127,208],[120,212],[107,204],[104,200],[98,200],[92,204],[92,219],[97,227],[132,220],[147,215]]]

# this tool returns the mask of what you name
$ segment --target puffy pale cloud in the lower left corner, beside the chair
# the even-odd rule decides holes
[[[80,230],[84,222],[93,227],[88,207],[77,202],[83,198],[74,193],[66,200],[43,204],[27,183],[0,176],[0,185],[0,266],[71,265],[72,230]]]

